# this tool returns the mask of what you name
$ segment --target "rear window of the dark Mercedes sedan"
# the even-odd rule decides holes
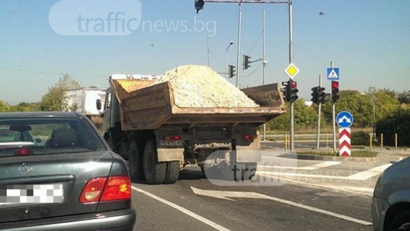
[[[81,119],[0,120],[0,157],[97,150],[105,150],[105,146]]]

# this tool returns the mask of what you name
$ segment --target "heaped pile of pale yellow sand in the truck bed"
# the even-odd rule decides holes
[[[258,107],[240,89],[207,66],[186,65],[162,74],[155,84],[169,81],[178,107]]]

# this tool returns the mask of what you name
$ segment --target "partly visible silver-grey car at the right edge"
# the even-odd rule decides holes
[[[379,177],[372,219],[376,231],[410,230],[410,158],[393,164]]]

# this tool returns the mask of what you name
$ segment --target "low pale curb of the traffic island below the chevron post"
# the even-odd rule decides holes
[[[323,161],[340,161],[340,162],[378,162],[381,160],[401,161],[406,158],[406,157],[400,157],[400,156],[379,156],[379,155],[377,157],[330,157],[330,156],[316,156],[316,155],[288,153],[288,154],[280,155],[280,157],[298,159],[298,160],[323,160]]]

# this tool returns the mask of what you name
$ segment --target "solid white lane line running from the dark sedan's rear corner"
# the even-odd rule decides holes
[[[170,202],[170,201],[167,201],[167,200],[162,199],[162,198],[160,198],[160,197],[158,197],[158,196],[155,196],[154,194],[151,194],[151,192],[142,190],[142,189],[137,188],[137,187],[135,187],[135,186],[131,186],[131,188],[132,188],[133,190],[137,191],[137,192],[140,192],[141,194],[144,194],[144,195],[146,195],[146,196],[148,196],[148,197],[154,199],[154,200],[157,200],[157,201],[159,201],[159,202],[161,202],[161,203],[164,203],[164,204],[166,204],[166,205],[168,205],[168,206],[171,206],[171,207],[173,207],[173,208],[179,210],[181,213],[184,213],[184,214],[186,214],[186,215],[188,215],[188,216],[190,216],[190,217],[192,217],[192,218],[194,218],[194,219],[196,219],[196,220],[198,220],[198,221],[200,221],[200,222],[202,222],[202,223],[205,223],[205,224],[207,224],[207,225],[209,225],[209,226],[215,228],[216,230],[220,230],[220,231],[231,231],[230,229],[228,229],[228,228],[226,228],[226,227],[223,227],[222,225],[219,225],[219,224],[217,224],[217,223],[215,223],[215,222],[213,222],[213,221],[211,221],[211,220],[208,220],[208,219],[206,219],[206,218],[204,218],[204,217],[202,217],[202,216],[199,216],[199,215],[193,213],[192,211],[190,211],[190,210],[188,210],[188,209],[186,209],[186,208],[183,208],[183,207],[181,207],[181,206],[179,206],[179,205],[177,205],[177,204],[174,204],[174,203],[172,203],[172,202]]]

